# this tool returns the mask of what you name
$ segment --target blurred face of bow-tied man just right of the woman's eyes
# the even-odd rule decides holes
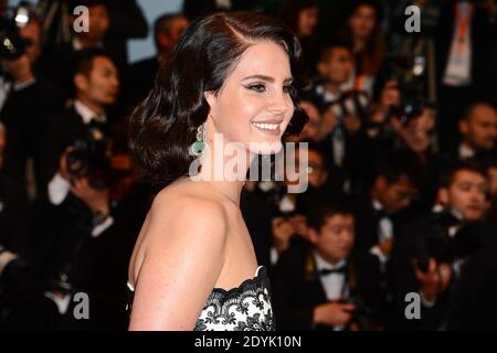
[[[336,46],[329,55],[318,64],[318,72],[327,77],[331,84],[341,85],[346,83],[353,69],[353,55],[347,47]]]

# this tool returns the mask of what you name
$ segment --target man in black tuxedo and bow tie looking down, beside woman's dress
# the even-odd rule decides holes
[[[273,278],[279,329],[373,329],[379,308],[376,275],[361,272],[350,257],[351,211],[343,205],[316,205],[307,217],[310,243],[285,252]]]

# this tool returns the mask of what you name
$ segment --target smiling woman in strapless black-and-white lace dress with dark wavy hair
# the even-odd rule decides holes
[[[245,176],[258,153],[277,152],[283,136],[300,131],[306,118],[292,86],[299,52],[277,20],[209,15],[186,30],[135,111],[131,149],[165,188],[129,265],[130,330],[274,329],[266,269],[240,213],[244,181],[213,178],[232,162],[214,154],[236,143]]]

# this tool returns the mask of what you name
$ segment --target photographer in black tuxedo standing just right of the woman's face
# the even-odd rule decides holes
[[[343,90],[353,69],[353,53],[347,41],[328,43],[317,69],[320,78],[306,97],[321,114],[315,140],[330,167],[331,179],[346,175],[346,188],[340,192],[351,194],[362,188],[363,176],[371,168],[370,149],[363,132],[369,98],[362,92]]]

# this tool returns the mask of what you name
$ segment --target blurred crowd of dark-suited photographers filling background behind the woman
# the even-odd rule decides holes
[[[186,0],[133,64],[126,41],[148,32],[135,0],[68,2],[61,22],[84,4],[89,31],[63,41],[31,7],[22,53],[0,50],[0,330],[127,328],[129,257],[158,192],[129,116],[189,23],[231,10],[281,18],[303,51],[309,120],[292,141],[307,142],[308,188],[247,181],[241,199],[276,328],[497,328],[494,0]]]

